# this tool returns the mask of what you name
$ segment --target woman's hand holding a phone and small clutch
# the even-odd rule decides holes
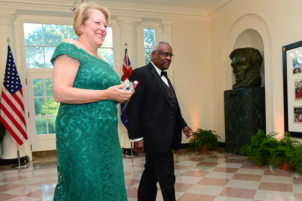
[[[132,91],[121,90],[121,88],[123,88],[125,85],[126,83],[120,81],[120,85],[115,85],[106,89],[106,93],[108,97],[107,99],[115,100],[117,101],[117,103],[122,103],[124,101],[127,101],[134,93],[134,90]]]

